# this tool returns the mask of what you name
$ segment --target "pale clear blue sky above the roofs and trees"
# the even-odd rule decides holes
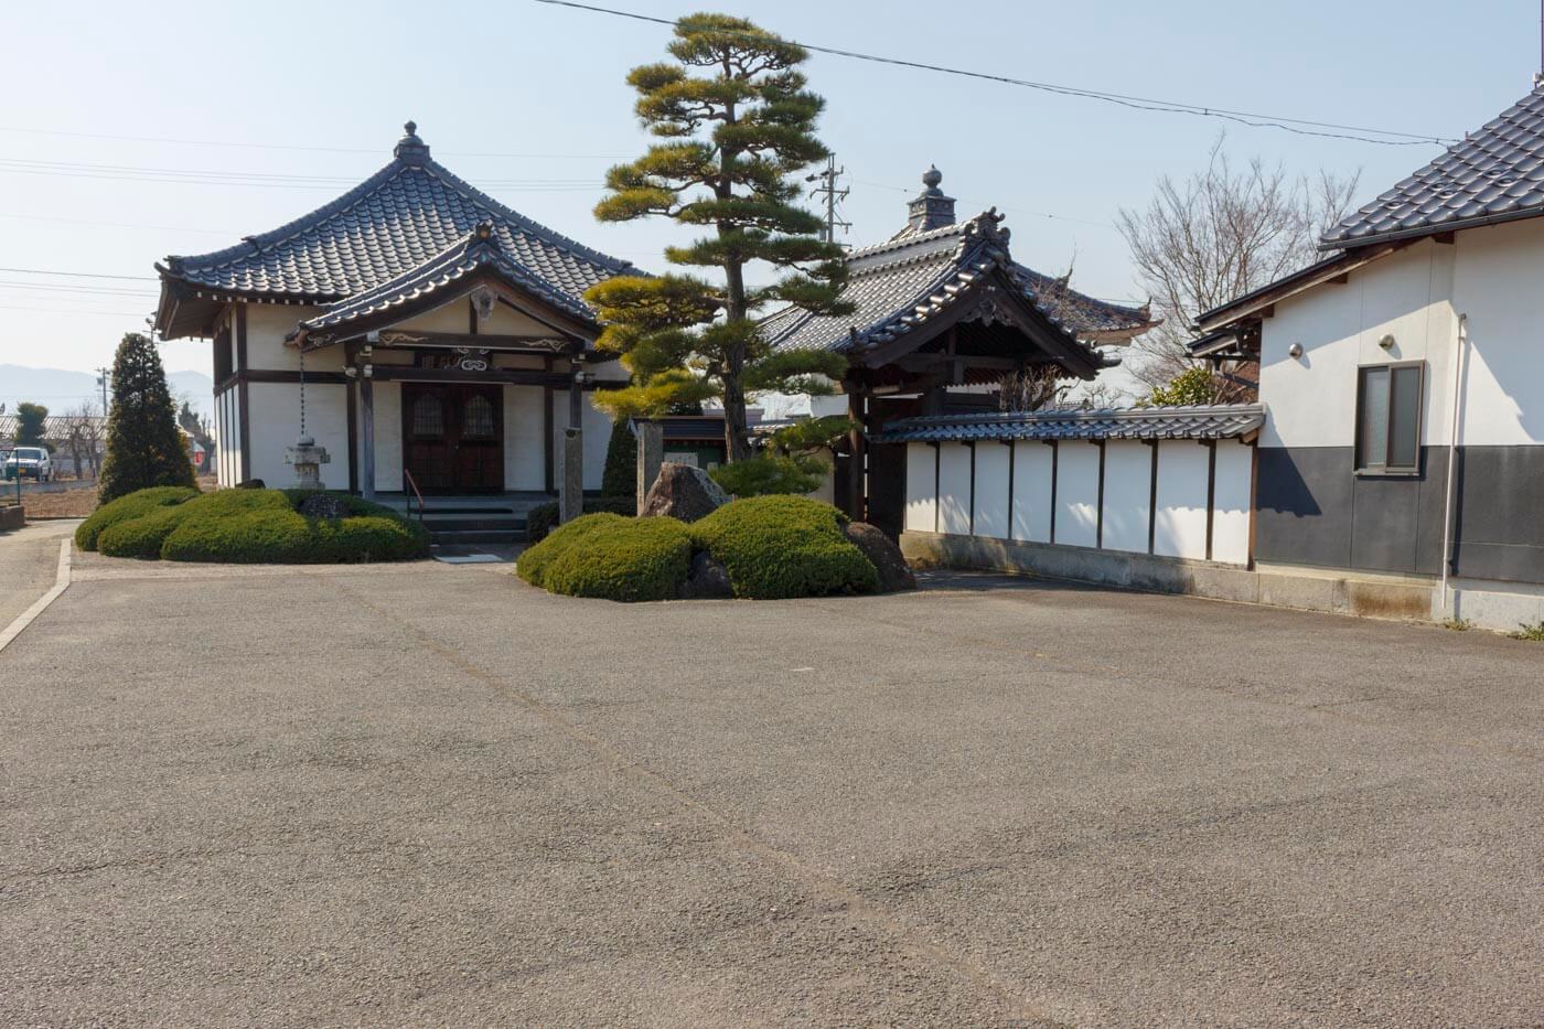
[[[409,117],[443,164],[596,249],[659,267],[661,246],[682,238],[667,224],[601,226],[590,215],[605,167],[645,142],[622,77],[661,57],[662,26],[528,0],[3,6],[3,267],[151,275],[167,253],[224,247],[332,199],[389,159]],[[837,48],[1439,136],[1493,117],[1527,93],[1539,63],[1532,0],[1479,0],[1462,15],[1437,0],[720,0],[709,9]],[[965,212],[1007,212],[1019,260],[1048,272],[1076,260],[1075,284],[1109,298],[1136,295],[1110,226],[1116,210],[1143,204],[1160,175],[1197,170],[1224,127],[840,57],[815,56],[809,77],[829,102],[823,139],[851,175],[848,241],[892,233],[936,162]],[[1436,153],[1227,133],[1240,159],[1362,168],[1363,199]],[[144,181],[165,173],[142,168],[215,175]],[[153,306],[150,281],[0,272],[0,365],[107,363]],[[107,289],[125,292],[96,292]],[[208,371],[198,341],[168,343],[164,357],[171,369]]]

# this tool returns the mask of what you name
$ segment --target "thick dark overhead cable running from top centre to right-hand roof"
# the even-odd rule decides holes
[[[537,3],[547,3],[559,8],[573,8],[576,11],[591,11],[594,14],[610,14],[613,17],[631,19],[635,22],[650,22],[653,25],[667,25],[670,28],[679,28],[682,23],[675,19],[659,19],[647,14],[635,14],[631,11],[613,11],[611,8],[599,8],[588,3],[574,3],[573,0],[536,0]],[[716,29],[724,34],[736,34],[730,29]],[[743,36],[755,39],[753,32],[743,32]],[[818,46],[815,43],[803,43],[798,40],[784,40],[794,46],[800,46],[817,54],[831,54],[834,57],[849,57],[852,60],[868,60],[880,65],[894,65],[899,68],[914,68],[919,71],[934,71],[939,74],[960,76],[965,79],[982,79],[985,82],[997,82],[1002,85],[1022,87],[1025,90],[1039,90],[1042,93],[1055,93],[1058,96],[1076,96],[1087,100],[1102,100],[1106,104],[1115,104],[1118,107],[1126,107],[1138,111],[1160,111],[1166,114],[1194,114],[1198,117],[1217,117],[1229,122],[1237,122],[1240,125],[1248,125],[1251,128],[1280,128],[1282,131],[1294,133],[1299,136],[1320,136],[1325,139],[1353,139],[1357,142],[1377,144],[1382,147],[1425,147],[1437,145],[1447,147],[1450,144],[1459,142],[1458,139],[1445,136],[1422,136],[1416,133],[1402,133],[1387,128],[1366,128],[1362,125],[1340,125],[1336,122],[1315,122],[1305,117],[1286,117],[1278,114],[1255,114],[1251,111],[1235,111],[1229,108],[1218,107],[1203,107],[1198,104],[1183,104],[1180,100],[1158,100],[1152,97],[1130,96],[1124,93],[1106,93],[1102,90],[1085,90],[1081,87],[1065,87],[1051,82],[1031,82],[1028,79],[1011,79],[1008,76],[991,74],[987,71],[971,71],[967,68],[948,68],[945,65],[929,65],[920,60],[905,60],[900,57],[882,57],[879,54],[865,54],[852,49],[838,49],[835,46]],[[1365,134],[1371,133],[1371,134]],[[1385,139],[1374,139],[1373,136],[1383,136]]]

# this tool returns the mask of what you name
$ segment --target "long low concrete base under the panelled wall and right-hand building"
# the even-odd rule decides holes
[[[1544,589],[1501,582],[1454,581],[1444,603],[1439,581],[1420,576],[1286,565],[1260,565],[1251,570],[1146,553],[920,531],[902,533],[900,550],[906,561],[920,569],[1034,575],[1362,618],[1464,618],[1478,629],[1504,632],[1544,621]]]

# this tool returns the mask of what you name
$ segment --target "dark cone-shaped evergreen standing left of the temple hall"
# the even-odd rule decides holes
[[[193,464],[178,433],[161,354],[148,337],[130,332],[113,358],[113,413],[99,499],[107,504],[157,485],[195,485]]]

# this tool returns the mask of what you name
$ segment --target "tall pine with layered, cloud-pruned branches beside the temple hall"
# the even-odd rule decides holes
[[[648,151],[607,173],[601,221],[670,218],[710,235],[669,247],[672,264],[716,269],[699,275],[618,277],[587,298],[608,324],[598,346],[619,354],[633,383],[596,396],[613,416],[661,414],[718,397],[729,460],[750,456],[747,394],[832,392],[846,362],[828,352],[772,352],[757,314],[789,303],[843,314],[841,249],[818,236],[823,222],[795,202],[795,172],[826,156],[815,138],[824,100],[798,66],[809,56],[744,19],[693,14],[676,25],[673,62],[628,74],[635,110],[659,138]],[[696,74],[693,74],[696,71]],[[747,284],[747,266],[780,275]]]

